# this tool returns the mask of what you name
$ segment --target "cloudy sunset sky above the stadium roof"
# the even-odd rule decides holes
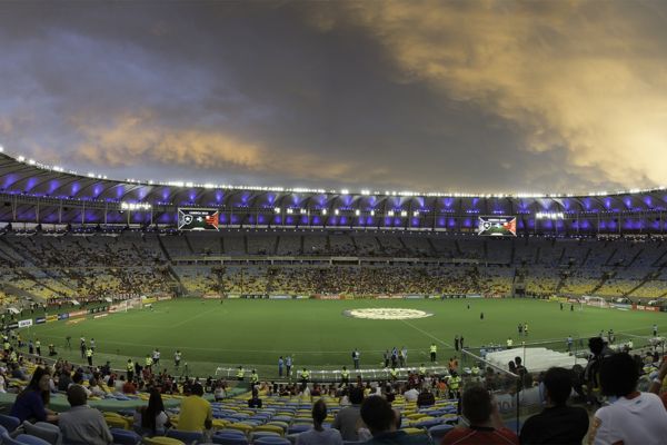
[[[3,1],[0,145],[109,178],[667,184],[665,1]]]

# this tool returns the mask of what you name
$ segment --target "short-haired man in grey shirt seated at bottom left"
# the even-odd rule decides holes
[[[81,385],[72,385],[67,390],[67,400],[71,408],[60,414],[58,422],[63,443],[91,445],[113,443],[113,436],[102,413],[88,406],[86,398],[86,392]]]

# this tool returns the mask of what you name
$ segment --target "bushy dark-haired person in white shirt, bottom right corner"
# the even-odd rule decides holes
[[[667,411],[658,396],[637,390],[639,369],[626,353],[606,357],[600,364],[603,394],[613,403],[595,413],[588,434],[591,444],[664,444]]]

